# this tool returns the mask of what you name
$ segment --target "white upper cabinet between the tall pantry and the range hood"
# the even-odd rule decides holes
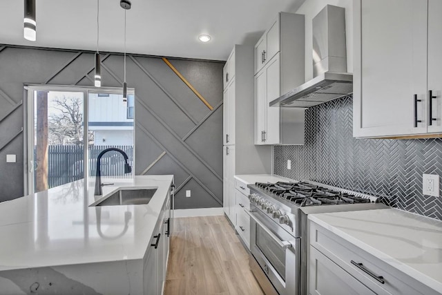
[[[255,144],[304,143],[303,129],[282,142],[280,108],[269,106],[305,82],[304,28],[304,15],[280,12],[255,46]]]

